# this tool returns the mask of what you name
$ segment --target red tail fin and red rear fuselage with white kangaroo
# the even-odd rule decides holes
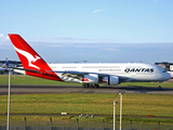
[[[24,68],[40,70],[41,73],[34,74],[30,72],[26,72],[26,74],[49,79],[53,78],[53,80],[62,80],[55,73],[51,73],[51,75],[46,73],[48,70],[52,70],[50,66],[19,35],[9,34],[9,37]]]

